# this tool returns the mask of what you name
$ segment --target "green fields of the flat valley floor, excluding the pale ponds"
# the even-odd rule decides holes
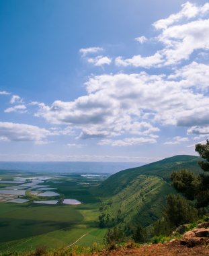
[[[17,174],[0,172],[1,179],[10,181]],[[33,174],[38,177],[40,174]],[[24,173],[31,177],[32,173]],[[53,176],[53,175],[52,175]],[[38,198],[24,196],[30,199],[27,203],[0,203],[0,253],[9,251],[28,251],[36,247],[68,247],[71,245],[88,245],[101,243],[106,229],[98,228],[98,198],[89,192],[89,187],[101,183],[87,179],[79,174],[69,174],[44,182],[44,185],[54,188],[60,196]],[[1,184],[4,189],[8,184]],[[14,184],[11,184],[14,185]],[[9,186],[11,186],[9,185]],[[24,198],[22,197],[22,198]],[[81,201],[81,205],[63,205],[62,199],[71,198]],[[33,203],[34,199],[58,199],[57,205]]]

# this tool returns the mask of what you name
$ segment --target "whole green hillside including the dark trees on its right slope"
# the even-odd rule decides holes
[[[153,236],[166,241],[173,228],[206,214],[196,209],[195,201],[187,201],[196,199],[194,194],[201,191],[200,185],[204,187],[202,177],[206,183],[200,162],[202,158],[196,156],[173,156],[112,175],[96,190],[102,198],[100,227],[110,228],[110,238],[116,233],[116,237],[122,234],[120,239],[129,237],[140,243]]]

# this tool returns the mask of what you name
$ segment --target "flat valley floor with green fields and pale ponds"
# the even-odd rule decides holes
[[[0,230],[4,234],[0,236],[0,253],[74,243],[92,245],[103,240],[106,230],[97,227],[98,199],[89,187],[106,177],[51,174],[44,178],[1,171],[0,179]],[[46,192],[58,195],[43,196]]]

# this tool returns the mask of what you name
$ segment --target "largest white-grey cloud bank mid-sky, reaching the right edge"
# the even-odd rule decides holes
[[[36,116],[81,130],[81,139],[125,133],[151,136],[159,124],[205,125],[208,96],[195,92],[194,84],[189,87],[191,79],[185,75],[175,81],[146,72],[96,75],[85,84],[87,95],[71,102],[56,100],[51,106],[39,104]]]

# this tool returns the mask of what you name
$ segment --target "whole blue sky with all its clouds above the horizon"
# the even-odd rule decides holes
[[[0,161],[154,162],[209,135],[209,3],[1,0]]]

